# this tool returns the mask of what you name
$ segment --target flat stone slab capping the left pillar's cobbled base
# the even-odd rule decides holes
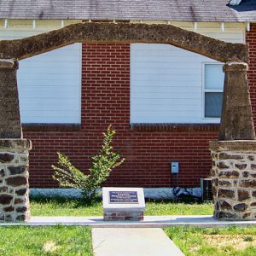
[[[0,150],[21,149],[31,150],[32,142],[27,139],[0,139]]]

